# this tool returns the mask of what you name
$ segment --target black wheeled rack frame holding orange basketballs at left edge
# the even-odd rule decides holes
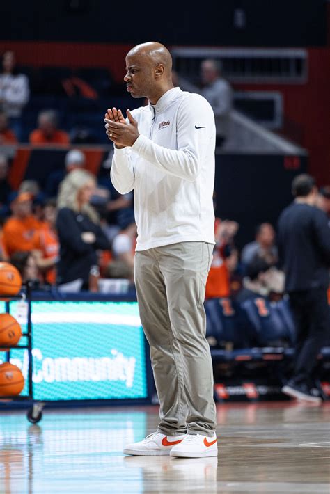
[[[32,356],[32,322],[31,322],[31,286],[26,284],[26,291],[16,296],[1,295],[0,301],[6,301],[6,312],[10,312],[10,301],[22,301],[27,304],[27,324],[26,332],[22,333],[22,337],[26,337],[26,344],[17,344],[13,346],[0,346],[0,351],[5,353],[5,362],[10,362],[10,351],[13,349],[27,350],[28,353],[28,369],[27,369],[27,384],[28,392],[26,395],[17,396],[0,396],[0,408],[2,406],[12,405],[13,403],[22,403],[28,406],[26,413],[27,420],[31,424],[37,424],[42,419],[42,409],[45,404],[42,401],[36,401],[33,399],[33,356]]]

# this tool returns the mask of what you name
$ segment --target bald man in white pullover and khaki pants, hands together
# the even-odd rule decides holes
[[[147,106],[108,109],[111,180],[134,190],[135,284],[160,403],[155,433],[125,454],[217,456],[216,410],[203,301],[214,246],[214,114],[201,95],[174,88],[171,55],[157,42],[126,56],[124,81]]]

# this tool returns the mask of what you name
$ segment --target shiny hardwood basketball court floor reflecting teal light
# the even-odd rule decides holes
[[[329,494],[330,403],[218,404],[219,457],[124,456],[158,407],[0,414],[0,493]]]

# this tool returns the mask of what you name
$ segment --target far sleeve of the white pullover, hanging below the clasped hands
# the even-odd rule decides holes
[[[114,148],[112,165],[111,165],[111,182],[116,191],[120,194],[126,194],[134,189],[134,166],[131,160],[130,148]]]

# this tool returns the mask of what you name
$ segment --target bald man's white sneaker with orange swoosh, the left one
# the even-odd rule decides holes
[[[139,443],[127,445],[124,449],[125,454],[135,454],[137,456],[159,456],[170,454],[173,446],[181,443],[184,434],[181,436],[165,436],[160,432],[149,434]]]

